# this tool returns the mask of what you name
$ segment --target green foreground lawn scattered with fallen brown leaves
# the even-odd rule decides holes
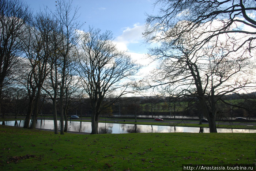
[[[0,170],[182,170],[253,164],[256,134],[53,134],[0,125]]]

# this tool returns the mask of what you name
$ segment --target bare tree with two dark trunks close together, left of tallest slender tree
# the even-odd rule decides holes
[[[41,90],[44,81],[50,72],[50,57],[54,55],[56,46],[52,44],[56,31],[56,21],[51,16],[39,13],[35,17],[32,25],[27,26],[27,34],[22,40],[23,52],[25,53],[25,62],[28,68],[27,74],[27,90],[29,93],[30,104],[27,113],[24,128],[29,127],[30,116],[33,111],[31,128],[35,128],[37,116],[39,113],[39,100],[41,98]]]

